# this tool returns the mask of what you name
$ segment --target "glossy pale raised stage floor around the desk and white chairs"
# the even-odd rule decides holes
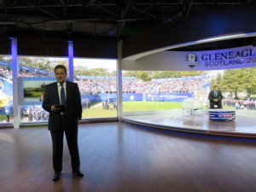
[[[209,119],[208,109],[190,115],[183,110],[168,110],[166,113],[127,115],[125,119],[145,124],[163,125],[207,133],[244,135],[256,137],[256,111],[236,110],[232,121],[213,121]]]

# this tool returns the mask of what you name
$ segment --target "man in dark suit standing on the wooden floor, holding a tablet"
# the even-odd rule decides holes
[[[73,173],[84,177],[80,172],[78,147],[78,121],[82,117],[82,105],[79,86],[66,80],[67,68],[62,65],[55,67],[56,82],[45,86],[43,108],[49,112],[48,129],[52,137],[53,181],[61,178],[63,137],[64,132],[67,146],[71,155]],[[64,105],[64,108],[58,108]]]

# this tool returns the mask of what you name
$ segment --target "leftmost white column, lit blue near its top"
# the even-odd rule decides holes
[[[13,104],[14,104],[14,128],[20,128],[20,108],[19,108],[19,67],[17,55],[17,38],[11,38],[12,41],[12,76],[13,76]]]

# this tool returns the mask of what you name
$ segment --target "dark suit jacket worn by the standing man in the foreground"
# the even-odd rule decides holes
[[[42,107],[49,112],[49,131],[58,131],[61,128],[61,123],[62,125],[64,123],[65,129],[71,129],[73,126],[77,126],[78,120],[82,118],[82,104],[78,84],[66,81],[66,91],[67,117],[62,118],[61,113],[51,111],[52,105],[60,105],[57,82],[45,86]]]

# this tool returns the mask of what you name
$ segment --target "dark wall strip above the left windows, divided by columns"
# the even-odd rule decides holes
[[[6,34],[0,34],[0,55],[11,54],[11,41]],[[18,55],[56,56],[68,55],[66,38],[18,36]],[[117,58],[115,41],[75,38],[73,41],[75,57]]]

